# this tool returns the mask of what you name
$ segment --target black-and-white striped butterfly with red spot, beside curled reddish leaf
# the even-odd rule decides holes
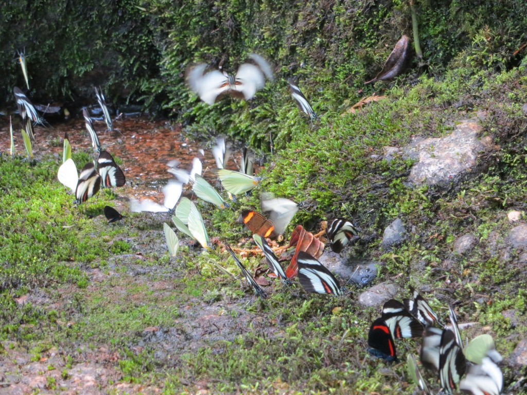
[[[344,289],[340,287],[333,273],[313,258],[311,254],[300,251],[297,263],[298,280],[306,292],[344,295]]]

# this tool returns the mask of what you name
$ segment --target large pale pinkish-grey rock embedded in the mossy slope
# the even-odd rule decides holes
[[[481,130],[477,120],[464,120],[447,136],[415,139],[405,149],[409,157],[418,160],[412,166],[409,181],[448,187],[462,176],[481,172],[488,161],[478,159],[494,147],[490,136],[478,139]]]

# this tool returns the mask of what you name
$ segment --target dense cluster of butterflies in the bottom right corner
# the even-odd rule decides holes
[[[444,328],[426,300],[415,289],[410,290],[412,299],[404,299],[403,303],[391,299],[384,304],[382,316],[370,326],[368,351],[387,361],[397,361],[394,339],[422,337],[422,366],[439,377],[442,393],[452,394],[458,384],[460,390],[473,395],[499,395],[503,373],[497,364],[502,357],[492,337],[480,335],[464,348],[453,308],[452,329]],[[431,395],[412,354],[408,355],[407,366],[418,386]]]

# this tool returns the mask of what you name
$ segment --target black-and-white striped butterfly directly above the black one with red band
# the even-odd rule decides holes
[[[404,304],[390,299],[383,306],[382,318],[388,325],[392,338],[422,337],[423,325],[406,310]]]

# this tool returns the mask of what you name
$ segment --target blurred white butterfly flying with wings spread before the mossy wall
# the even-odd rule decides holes
[[[236,76],[222,73],[219,70],[205,73],[207,65],[198,64],[189,69],[187,83],[190,89],[209,105],[214,104],[218,96],[225,93],[250,100],[255,96],[256,91],[264,88],[266,77],[272,80],[273,75],[271,66],[263,57],[250,54],[249,58],[255,64],[241,64]]]

